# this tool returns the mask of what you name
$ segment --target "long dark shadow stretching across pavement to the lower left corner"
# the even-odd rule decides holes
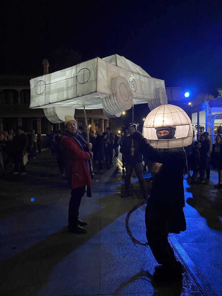
[[[112,211],[114,198],[116,199],[116,194],[96,200],[96,202],[101,202],[104,217]],[[115,208],[112,216],[109,215],[109,219],[104,220],[103,227],[115,221],[131,207],[132,202],[124,202],[121,207]],[[1,261],[1,295],[36,295],[48,282],[53,267],[101,230],[100,223],[93,223],[96,217],[100,217],[100,211],[99,209],[92,215],[84,217],[93,225],[87,234],[72,234],[67,232],[67,227],[64,227],[27,250],[14,255],[10,259]]]

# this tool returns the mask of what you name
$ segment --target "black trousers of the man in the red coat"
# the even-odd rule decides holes
[[[79,207],[81,203],[81,199],[85,193],[86,186],[81,186],[75,189],[72,189],[71,198],[69,201],[69,217],[68,223],[69,227],[77,226],[78,215],[79,215]]]

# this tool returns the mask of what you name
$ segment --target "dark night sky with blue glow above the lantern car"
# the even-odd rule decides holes
[[[38,76],[43,58],[53,72],[116,53],[193,96],[222,88],[221,1],[4,2],[0,74]]]

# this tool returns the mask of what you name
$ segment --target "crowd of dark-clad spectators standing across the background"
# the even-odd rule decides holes
[[[83,127],[78,127],[78,133],[83,137],[87,142],[87,135]],[[62,153],[60,149],[60,141],[62,138],[63,132],[61,130],[56,131],[55,133],[50,133],[50,144],[52,156],[55,156],[57,159],[57,164],[59,167],[59,175],[61,177],[65,176]],[[127,137],[130,136],[128,130],[125,130],[123,136],[115,134],[113,135],[110,127],[106,129],[104,133],[97,131],[94,135],[94,131],[89,132],[89,142],[92,144],[93,152],[93,165],[96,168],[96,174],[101,174],[104,170],[110,170],[113,165],[113,155],[118,157],[119,147],[122,154],[122,163],[123,163],[123,177],[125,177],[124,168],[131,165],[131,169],[136,164],[136,174],[139,178],[141,191],[143,195],[146,195],[146,191],[143,186],[143,177],[141,171],[137,170],[140,167],[142,160],[144,161],[144,171],[151,172],[152,177],[149,181],[152,181],[155,175],[155,163],[149,160],[146,156],[140,155],[141,158],[138,163],[131,163],[131,160],[134,162],[137,160],[137,157],[131,156],[130,152],[133,148],[135,151],[135,145],[132,146],[131,140],[127,140]],[[130,143],[128,143],[130,142]],[[198,184],[207,184],[207,181],[210,179],[210,157],[211,164],[213,169],[218,170],[218,184],[215,184],[215,188],[222,188],[222,138],[218,134],[215,137],[215,144],[212,146],[212,142],[209,139],[209,134],[204,132],[200,135],[199,141],[193,141],[189,147],[185,147],[186,156],[187,156],[187,171],[188,176],[190,176],[190,170],[193,171],[191,177],[191,186],[197,186]],[[34,130],[24,131],[22,126],[19,126],[17,131],[9,130],[2,131],[0,133],[0,175],[7,173],[7,167],[9,165],[9,160],[14,163],[14,174],[25,175],[25,165],[23,164],[23,157],[25,154],[28,155],[28,160],[34,160],[38,156],[41,156],[41,134],[36,135]],[[137,151],[135,152],[137,156]],[[104,161],[105,160],[105,161]],[[128,183],[131,177],[131,169],[127,170],[126,178],[126,194],[125,196],[130,195],[128,192]],[[144,173],[144,172],[143,172]],[[124,194],[123,194],[124,195]]]

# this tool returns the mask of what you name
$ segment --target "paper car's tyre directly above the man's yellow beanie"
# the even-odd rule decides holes
[[[65,115],[74,116],[75,108],[73,107],[50,107],[43,108],[46,118],[52,123],[64,122]]]

